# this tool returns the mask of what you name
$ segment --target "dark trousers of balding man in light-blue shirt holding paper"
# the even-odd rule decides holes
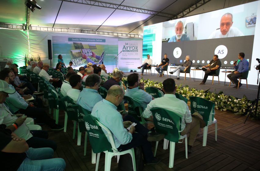
[[[118,151],[125,151],[128,149],[131,149],[133,147],[142,147],[142,152],[143,152],[143,158],[144,160],[149,163],[152,162],[154,159],[153,153],[152,153],[152,147],[151,147],[151,142],[147,141],[147,133],[149,132],[148,129],[146,129],[142,124],[140,124],[135,118],[133,118],[130,115],[127,115],[123,118],[123,121],[131,121],[137,123],[135,126],[136,132],[133,133],[133,139],[130,143],[120,145],[117,150]]]

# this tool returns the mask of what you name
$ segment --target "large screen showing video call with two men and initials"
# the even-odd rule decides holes
[[[192,67],[202,67],[217,54],[222,69],[233,69],[238,53],[244,52],[250,67],[258,4],[255,1],[145,26],[143,60],[147,54],[154,60],[166,53],[169,64],[178,66],[189,55]],[[160,64],[160,60],[155,63]]]

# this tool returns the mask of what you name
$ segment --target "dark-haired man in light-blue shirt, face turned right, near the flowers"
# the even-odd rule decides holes
[[[126,89],[125,95],[137,101],[144,110],[147,104],[154,100],[154,97],[144,91],[144,82],[139,82],[137,73],[128,75],[127,82],[129,87]]]

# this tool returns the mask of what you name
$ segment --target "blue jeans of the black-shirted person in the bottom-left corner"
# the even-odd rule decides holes
[[[62,171],[66,167],[63,158],[52,158],[54,151],[51,148],[29,148],[25,153],[27,157],[18,168],[18,171]]]

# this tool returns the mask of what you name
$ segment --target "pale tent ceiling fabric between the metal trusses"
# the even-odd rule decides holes
[[[25,1],[26,0],[1,1],[0,22],[24,24],[26,22],[26,8],[24,5]],[[88,0],[83,1],[89,2]],[[187,9],[194,3],[198,2],[199,0],[100,1],[161,12],[174,16],[182,12],[184,9]],[[37,26],[80,28],[99,31],[142,34],[143,26],[169,20],[168,17],[164,16],[154,16],[146,13],[87,5],[82,3],[69,2],[68,0],[36,0],[36,2],[39,6],[42,7],[42,9],[40,11],[35,9],[34,13],[30,13],[30,24]],[[82,2],[82,0],[78,0],[78,2]]]

